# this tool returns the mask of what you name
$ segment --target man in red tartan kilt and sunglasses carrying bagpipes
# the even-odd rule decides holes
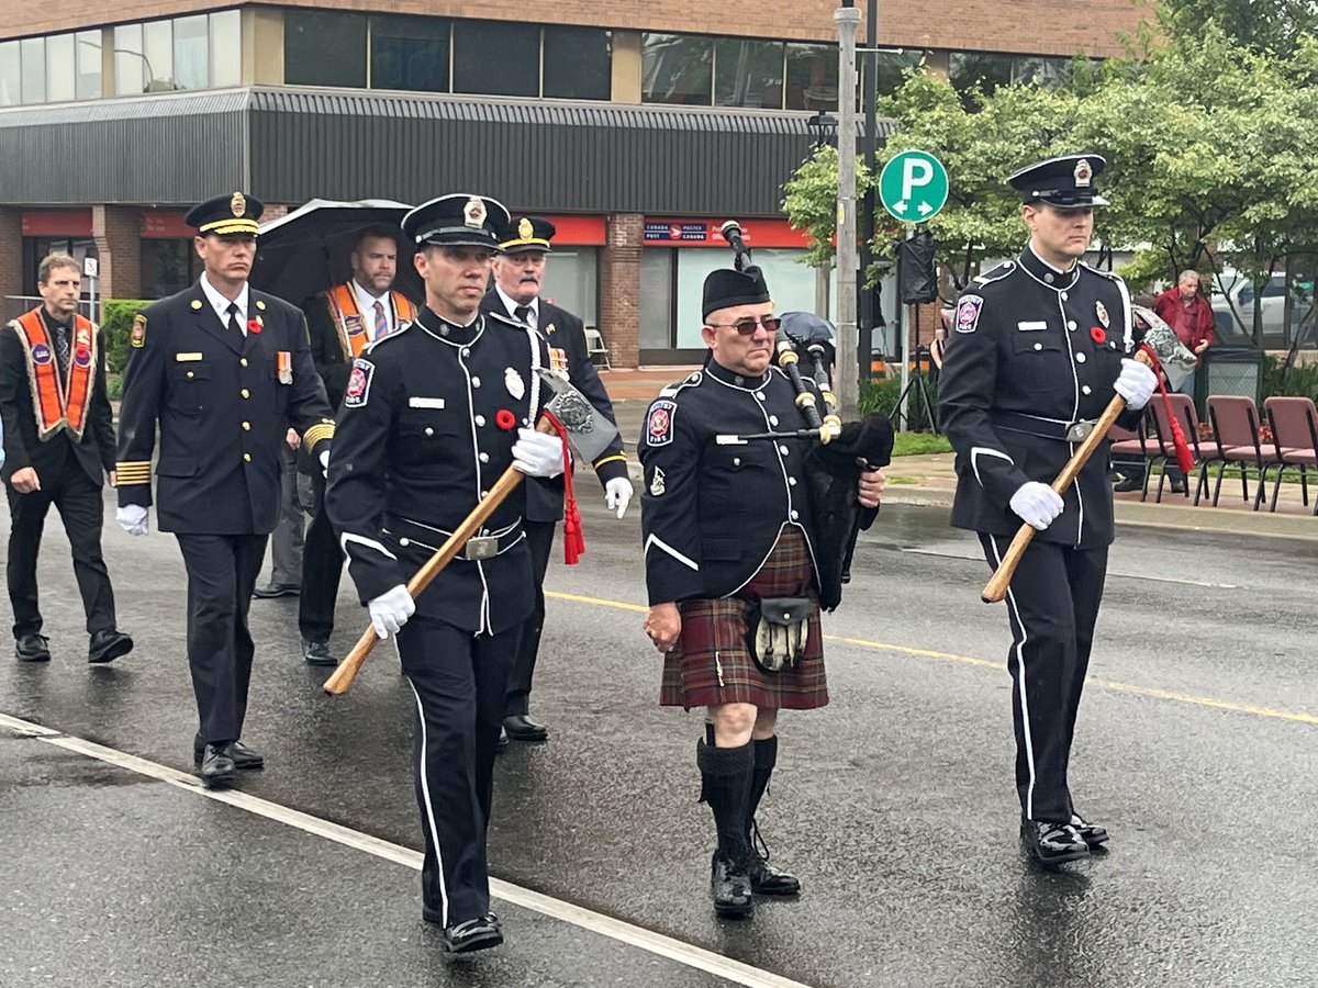
[[[650,404],[638,452],[650,611],[645,631],[664,652],[660,703],[706,707],[696,746],[701,800],[718,847],[710,894],[722,917],[754,914],[753,893],[795,896],[800,883],[751,851],[755,810],[778,760],[778,711],[828,702],[818,609],[818,535],[807,483],[809,441],[796,393],[770,366],[779,320],[758,269],[713,271],[704,286],[704,370]],[[772,440],[737,441],[782,432]],[[729,441],[731,440],[731,441]],[[878,470],[861,473],[874,507]],[[803,645],[786,664],[751,655],[747,632],[784,605]],[[774,615],[768,615],[774,617]]]

